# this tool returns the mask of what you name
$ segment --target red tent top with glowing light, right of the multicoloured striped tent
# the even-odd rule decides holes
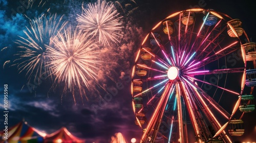
[[[83,143],[85,140],[72,135],[67,128],[62,127],[59,130],[46,135],[45,142]]]

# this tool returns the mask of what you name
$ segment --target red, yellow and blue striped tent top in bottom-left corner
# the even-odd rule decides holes
[[[43,142],[46,134],[29,126],[27,122],[19,122],[15,126],[8,129],[8,139],[5,138],[4,132],[1,132],[1,136],[1,142]]]

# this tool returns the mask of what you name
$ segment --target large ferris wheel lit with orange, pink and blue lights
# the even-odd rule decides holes
[[[157,23],[132,71],[140,142],[231,142],[230,135],[243,135],[242,117],[254,110],[255,47],[241,20],[210,9]]]

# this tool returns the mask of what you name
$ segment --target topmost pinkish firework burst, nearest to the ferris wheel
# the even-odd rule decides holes
[[[88,9],[84,9],[83,12],[76,18],[79,22],[78,28],[83,29],[85,32],[89,32],[89,35],[98,36],[99,43],[110,44],[109,40],[119,42],[117,37],[122,36],[118,31],[123,28],[118,17],[119,13],[115,10],[112,3],[106,3],[106,1],[96,4],[89,4]]]

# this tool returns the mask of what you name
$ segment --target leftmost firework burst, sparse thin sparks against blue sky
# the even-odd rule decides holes
[[[34,76],[34,80],[49,72],[46,66],[46,45],[50,44],[50,39],[57,34],[58,30],[65,27],[66,22],[61,22],[60,18],[53,14],[50,16],[42,15],[33,20],[30,19],[30,28],[24,30],[25,37],[17,40],[15,43],[19,44],[19,52],[16,54],[18,58],[14,60],[17,62],[19,73],[26,71],[28,80]],[[15,64],[15,65],[16,65]]]

